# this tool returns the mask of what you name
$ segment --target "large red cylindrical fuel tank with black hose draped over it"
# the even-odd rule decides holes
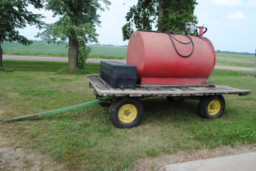
[[[135,31],[128,43],[127,64],[137,66],[140,84],[205,84],[215,62],[203,37]]]

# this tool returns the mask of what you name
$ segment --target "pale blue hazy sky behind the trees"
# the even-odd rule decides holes
[[[138,0],[109,0],[110,10],[99,13],[101,15],[101,27],[96,27],[100,35],[100,44],[127,45],[122,40],[121,27],[126,23],[126,13],[130,6],[136,5]],[[208,38],[215,50],[235,52],[256,52],[256,0],[197,0],[194,14],[197,16],[197,26],[207,27],[203,35]],[[50,11],[35,10],[32,6],[28,10],[33,13],[42,13],[46,23],[54,23],[59,18],[53,18]],[[152,30],[156,30],[153,27]],[[171,30],[171,29],[170,29]],[[19,29],[21,35],[31,40],[37,32],[35,26],[27,26]],[[94,43],[92,43],[94,44]]]

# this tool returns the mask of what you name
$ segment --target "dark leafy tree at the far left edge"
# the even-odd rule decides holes
[[[0,0],[0,67],[2,67],[3,50],[1,43],[4,41],[18,41],[23,45],[32,44],[24,36],[15,30],[25,28],[26,25],[37,25],[42,29],[44,22],[41,14],[33,14],[27,11],[28,4],[40,9],[43,7],[44,0]]]

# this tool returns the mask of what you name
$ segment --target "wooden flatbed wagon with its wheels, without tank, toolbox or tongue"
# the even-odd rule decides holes
[[[222,95],[249,95],[250,90],[235,89],[229,86],[207,82],[202,85],[137,85],[135,88],[113,88],[100,76],[88,75],[89,87],[94,89],[99,102],[110,106],[109,117],[115,127],[129,128],[139,125],[143,115],[140,98],[166,97],[168,101],[182,102],[185,99],[199,100],[198,113],[202,118],[220,117],[225,109]]]

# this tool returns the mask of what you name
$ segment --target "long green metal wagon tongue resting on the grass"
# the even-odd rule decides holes
[[[56,110],[50,110],[50,111],[47,111],[47,112],[41,112],[41,113],[38,113],[38,114],[29,114],[29,115],[26,115],[26,116],[8,118],[8,119],[0,120],[0,121],[1,122],[11,122],[11,121],[16,121],[16,120],[26,120],[26,119],[29,119],[29,118],[34,119],[34,118],[39,118],[39,117],[42,117],[42,116],[47,116],[47,115],[51,115],[51,114],[59,114],[59,113],[62,113],[62,112],[66,112],[68,110],[84,108],[84,107],[92,106],[94,104],[98,104],[98,103],[101,103],[101,102],[109,102],[109,101],[110,101],[110,99],[108,97],[104,97],[104,98],[101,98],[101,99],[98,99],[98,100],[95,100],[95,101],[89,101],[89,102],[86,102],[86,103],[78,104],[78,105],[75,105],[75,106],[70,106],[70,107],[67,107],[67,108],[60,108],[60,109],[56,109]]]

